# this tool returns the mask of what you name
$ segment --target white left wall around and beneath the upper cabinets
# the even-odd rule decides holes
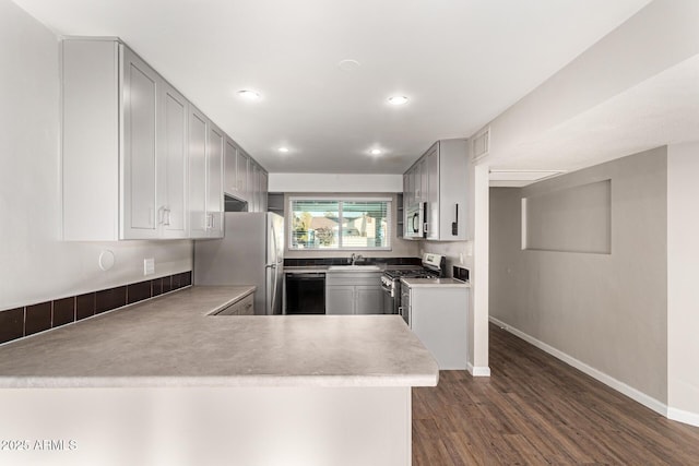
[[[58,38],[0,0],[0,310],[191,270],[191,241],[59,240]],[[90,176],[90,174],[85,174]],[[102,272],[109,249],[114,268]]]

